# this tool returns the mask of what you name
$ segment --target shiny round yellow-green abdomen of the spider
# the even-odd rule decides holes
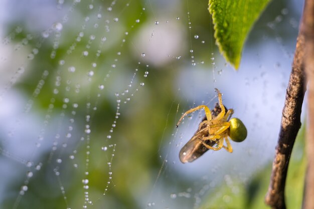
[[[239,118],[231,118],[229,120],[229,136],[233,141],[241,142],[247,136],[247,130],[243,122]]]

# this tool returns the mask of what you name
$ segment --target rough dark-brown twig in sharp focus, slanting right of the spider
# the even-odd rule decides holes
[[[284,187],[288,164],[296,134],[301,126],[300,115],[304,97],[304,34],[299,30],[293,58],[292,71],[286,90],[282,110],[281,125],[275,157],[272,164],[271,179],[265,202],[271,208],[284,209]]]

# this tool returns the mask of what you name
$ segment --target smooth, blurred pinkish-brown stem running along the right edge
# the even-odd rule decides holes
[[[303,209],[314,208],[314,1],[305,0],[300,31],[304,34],[304,69],[307,80],[308,118],[306,128],[307,170]]]

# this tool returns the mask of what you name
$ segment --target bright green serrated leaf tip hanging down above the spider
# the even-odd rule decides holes
[[[270,0],[209,0],[216,44],[225,59],[239,68],[245,39]]]

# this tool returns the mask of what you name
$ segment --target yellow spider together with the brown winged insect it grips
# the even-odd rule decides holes
[[[186,111],[178,121],[177,127],[188,114],[199,109],[204,109],[206,116],[199,125],[194,136],[184,145],[180,151],[179,157],[182,163],[192,162],[202,156],[207,150],[220,150],[225,148],[232,152],[232,146],[228,138],[235,142],[243,141],[247,136],[247,130],[239,118],[231,118],[233,109],[227,109],[222,104],[222,94],[215,88],[218,96],[218,103],[214,110],[206,105],[200,105]],[[230,119],[231,118],[231,119]],[[226,141],[226,145],[224,145]]]

